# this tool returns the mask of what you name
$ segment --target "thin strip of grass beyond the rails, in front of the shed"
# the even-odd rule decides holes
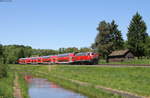
[[[99,64],[150,64],[150,59],[133,59],[124,62],[109,62],[107,63],[106,60],[100,60]]]

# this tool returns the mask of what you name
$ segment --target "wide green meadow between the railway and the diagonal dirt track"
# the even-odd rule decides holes
[[[97,66],[75,66],[75,65],[57,65],[52,66],[49,70],[49,66],[32,66],[32,65],[11,65],[17,69],[30,70],[30,73],[37,74],[38,72],[44,72],[49,75],[42,75],[45,78],[51,78],[60,85],[73,85],[70,82],[60,82],[60,79],[52,78],[53,75],[65,77],[67,79],[79,80],[82,82],[91,83],[93,85],[102,85],[108,88],[128,91],[141,96],[150,96],[150,68],[149,67],[97,67]],[[62,80],[61,80],[62,81]],[[69,87],[69,86],[66,86]],[[72,86],[74,87],[74,86]],[[71,88],[77,90],[77,88]],[[96,93],[102,93],[106,98],[111,94],[107,94],[101,90],[96,90],[89,87],[93,91],[93,95]],[[89,93],[87,88],[82,88],[82,93]],[[96,93],[94,93],[96,92]],[[92,95],[92,94],[91,94]],[[111,95],[114,97],[114,95]],[[119,96],[118,96],[119,97]],[[115,96],[116,98],[116,96]]]

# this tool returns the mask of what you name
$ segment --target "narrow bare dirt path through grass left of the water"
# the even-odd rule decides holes
[[[19,86],[19,83],[18,83],[18,75],[17,73],[15,73],[15,80],[14,80],[14,98],[22,98],[22,95],[21,95],[21,89],[20,89],[20,86]]]

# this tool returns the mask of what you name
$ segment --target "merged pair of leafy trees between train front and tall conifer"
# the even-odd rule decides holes
[[[117,27],[118,25],[115,24],[115,21],[113,20],[111,24],[102,21],[97,28],[99,33],[96,36],[92,48],[101,53],[104,58],[107,58],[113,50],[123,48],[123,38],[121,31],[119,31]]]

